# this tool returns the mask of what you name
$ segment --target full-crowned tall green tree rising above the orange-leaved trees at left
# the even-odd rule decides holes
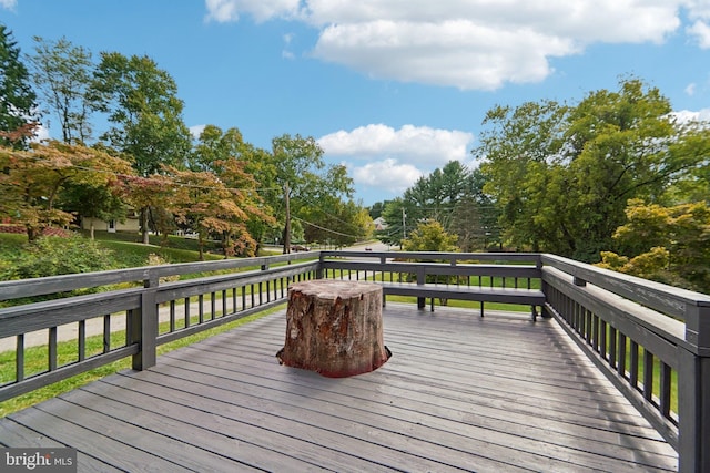
[[[164,165],[184,167],[192,137],[182,120],[183,102],[175,81],[152,59],[101,53],[92,92],[99,110],[114,125],[101,140],[132,156],[140,176],[158,174]],[[140,208],[144,244],[149,243],[148,210]]]

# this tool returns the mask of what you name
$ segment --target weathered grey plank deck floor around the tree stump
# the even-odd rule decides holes
[[[388,304],[378,370],[282,367],[280,312],[0,420],[79,471],[676,471],[554,320]]]

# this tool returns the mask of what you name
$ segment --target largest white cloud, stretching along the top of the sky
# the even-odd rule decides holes
[[[320,30],[313,55],[368,76],[459,89],[539,82],[550,60],[592,43],[662,43],[680,9],[707,0],[205,0],[207,18],[298,20]],[[696,23],[706,24],[706,23]],[[700,25],[692,34],[701,37]]]

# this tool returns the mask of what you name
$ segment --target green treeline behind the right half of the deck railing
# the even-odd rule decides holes
[[[710,126],[658,89],[625,78],[577,104],[494,107],[473,155],[475,169],[448,163],[375,205],[382,238],[434,220],[466,251],[554,253],[710,292]]]

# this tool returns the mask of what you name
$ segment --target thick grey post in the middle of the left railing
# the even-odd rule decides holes
[[[158,305],[155,304],[155,288],[159,278],[153,271],[149,271],[143,279],[141,295],[141,309],[132,317],[132,339],[139,343],[139,352],[133,356],[134,370],[146,370],[158,362]]]

